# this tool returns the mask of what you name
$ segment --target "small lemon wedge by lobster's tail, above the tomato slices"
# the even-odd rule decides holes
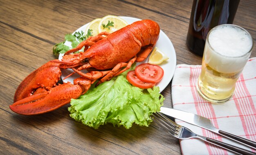
[[[148,58],[149,64],[161,64],[163,61],[169,59],[163,52],[161,52],[157,47],[153,49],[153,52]]]

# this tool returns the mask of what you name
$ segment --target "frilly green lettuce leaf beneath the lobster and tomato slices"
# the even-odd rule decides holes
[[[130,70],[135,69],[135,64]],[[130,71],[128,70],[128,71]],[[139,89],[127,80],[127,72],[103,82],[78,99],[72,99],[68,108],[70,116],[92,128],[112,123],[114,126],[130,128],[133,123],[148,126],[152,122],[150,115],[160,111],[164,97],[159,87]]]

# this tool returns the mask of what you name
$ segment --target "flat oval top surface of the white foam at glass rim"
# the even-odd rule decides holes
[[[216,27],[211,31],[208,39],[214,51],[225,56],[242,56],[252,48],[252,38],[249,33],[233,25]]]

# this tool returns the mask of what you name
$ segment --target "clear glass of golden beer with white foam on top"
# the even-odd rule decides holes
[[[252,49],[252,36],[242,27],[223,24],[211,29],[196,84],[198,93],[211,103],[228,101]]]

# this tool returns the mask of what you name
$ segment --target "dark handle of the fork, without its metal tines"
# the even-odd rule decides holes
[[[208,142],[211,142],[211,143],[216,144],[218,146],[222,146],[224,148],[227,148],[227,149],[229,149],[231,151],[234,151],[236,153],[240,153],[242,155],[256,155],[256,153],[254,153],[252,151],[248,151],[248,150],[245,150],[243,148],[239,148],[239,147],[236,147],[236,146],[224,143],[224,142],[220,142],[218,140],[214,140],[214,139],[211,139],[211,138],[208,138],[208,137],[206,138],[206,140]]]

